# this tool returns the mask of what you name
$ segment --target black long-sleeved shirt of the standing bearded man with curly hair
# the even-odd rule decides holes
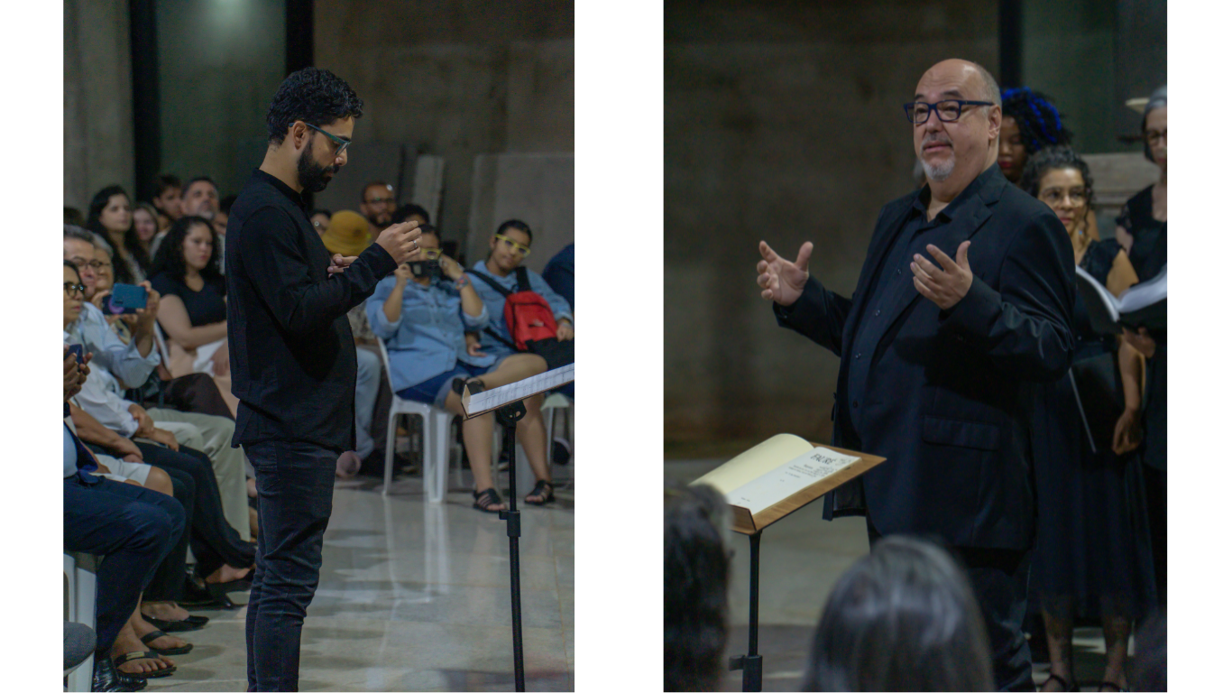
[[[397,264],[373,243],[342,274],[301,196],[255,170],[227,221],[227,335],[239,398],[233,446],[355,449],[355,339],[346,312]]]

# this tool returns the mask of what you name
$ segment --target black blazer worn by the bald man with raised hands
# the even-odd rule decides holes
[[[971,290],[946,314],[918,291],[897,297],[864,392],[848,391],[844,355],[919,192],[882,208],[850,300],[811,277],[800,300],[775,313],[843,359],[834,444],[886,457],[827,497],[828,519],[867,513],[882,534],[1021,550],[1035,527],[1029,381],[1053,381],[1069,367],[1073,249],[1057,216],[995,165],[971,185],[935,243],[955,258],[971,239]],[[848,408],[856,404],[864,435]]]

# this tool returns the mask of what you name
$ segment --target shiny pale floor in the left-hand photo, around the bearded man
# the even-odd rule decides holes
[[[572,467],[561,470],[558,482]],[[505,523],[472,509],[462,488],[429,506],[418,475],[388,497],[377,480],[338,482],[301,691],[514,689]],[[573,691],[572,492],[519,509],[526,687]],[[197,613],[211,621],[185,634],[193,651],[148,691],[246,688],[245,609]]]

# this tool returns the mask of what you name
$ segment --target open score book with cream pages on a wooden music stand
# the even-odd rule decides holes
[[[708,483],[732,506],[732,529],[754,534],[886,461],[780,433],[692,483]]]

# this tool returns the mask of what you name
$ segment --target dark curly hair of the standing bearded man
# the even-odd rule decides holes
[[[282,144],[296,121],[323,127],[345,117],[363,115],[363,101],[342,79],[329,70],[304,68],[287,75],[270,101],[265,116],[270,144]]]

